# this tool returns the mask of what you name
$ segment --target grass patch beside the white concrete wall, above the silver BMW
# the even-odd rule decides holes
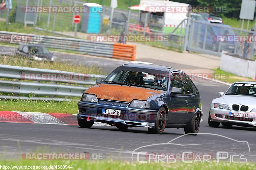
[[[216,79],[220,81],[224,81],[228,83],[234,83],[235,81],[253,81],[253,79],[249,77],[240,77],[232,73],[228,73],[223,70],[220,70],[220,68],[213,69],[213,71],[214,71],[213,73],[214,75],[223,75],[223,78],[220,78],[220,79],[219,79],[219,76],[216,76]]]

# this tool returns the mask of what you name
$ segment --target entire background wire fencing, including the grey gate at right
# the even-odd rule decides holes
[[[218,36],[245,36],[255,35],[253,31],[233,28],[228,25],[213,24],[207,21],[184,19],[180,25],[164,23],[163,13],[134,12],[129,10],[114,9],[102,6],[101,11],[93,15],[86,12],[24,12],[24,6],[52,6],[52,7],[77,7],[83,6],[83,2],[75,0],[17,0],[16,22],[25,25],[34,24],[35,29],[63,34],[70,37],[87,39],[92,35],[108,36],[147,36],[150,40],[139,40],[140,43],[179,51],[194,51],[212,55],[221,55],[221,51],[254,60],[255,43],[252,39],[243,41],[225,41]],[[76,14],[81,16],[81,22],[75,23],[73,18]],[[130,14],[130,15],[129,15]],[[129,22],[128,22],[129,20]],[[92,33],[87,31],[89,25],[98,22],[99,31]],[[94,26],[95,27],[95,26]],[[126,41],[114,40],[113,42],[126,43]]]

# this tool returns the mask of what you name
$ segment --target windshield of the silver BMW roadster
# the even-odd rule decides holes
[[[236,83],[233,84],[225,95],[256,96],[256,84]]]

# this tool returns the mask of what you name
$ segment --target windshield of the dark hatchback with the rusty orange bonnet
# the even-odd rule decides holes
[[[103,83],[123,84],[142,88],[167,91],[169,73],[156,74],[138,71],[115,70]]]

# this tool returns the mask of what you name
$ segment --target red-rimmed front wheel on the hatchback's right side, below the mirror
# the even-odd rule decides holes
[[[156,115],[155,128],[148,128],[149,133],[162,134],[166,125],[166,110],[161,107]]]

